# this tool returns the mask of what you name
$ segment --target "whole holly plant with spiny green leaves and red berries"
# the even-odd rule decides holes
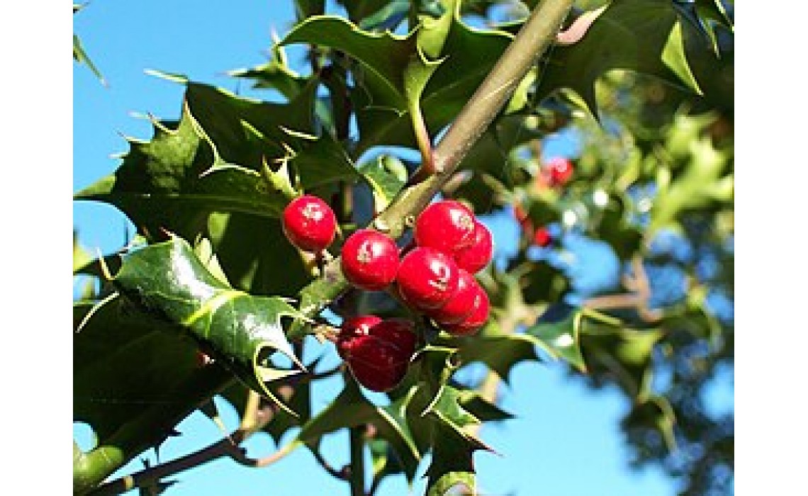
[[[629,398],[634,463],[730,487],[733,418],[701,398],[733,363],[733,2],[294,6],[269,60],[229,72],[280,102],[162,74],[179,118],[74,194],[137,228],[98,257],[74,238],[74,422],[95,434],[74,493],[310,450],[354,496],[417,473],[480,494],[480,427],[519,414],[498,385],[548,360]],[[196,410],[217,420],[214,397],[237,430],[110,477]],[[337,431],[345,467],[321,449]],[[251,458],[258,432],[285,443]]]

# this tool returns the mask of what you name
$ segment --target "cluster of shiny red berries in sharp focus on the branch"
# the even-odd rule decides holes
[[[334,241],[334,212],[316,196],[292,200],[281,221],[289,241],[301,250],[320,252]],[[406,250],[372,229],[352,233],[341,252],[345,279],[366,291],[395,283],[410,309],[450,334],[474,334],[488,320],[490,308],[487,293],[474,278],[490,262],[490,231],[454,200],[425,208],[415,219],[414,231],[415,244]],[[401,318],[347,318],[337,349],[360,384],[385,391],[406,373],[415,352],[415,326]]]

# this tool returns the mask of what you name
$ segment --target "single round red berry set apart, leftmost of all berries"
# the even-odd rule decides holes
[[[292,245],[319,253],[334,241],[337,217],[330,206],[317,196],[303,195],[286,205],[281,225]]]

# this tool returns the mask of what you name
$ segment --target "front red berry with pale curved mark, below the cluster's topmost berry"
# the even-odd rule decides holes
[[[436,309],[457,291],[459,270],[452,257],[418,246],[398,266],[398,292],[417,310]]]

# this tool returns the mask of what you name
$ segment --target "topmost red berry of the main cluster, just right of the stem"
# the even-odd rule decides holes
[[[446,254],[473,242],[474,214],[464,204],[441,200],[423,209],[415,219],[415,243]]]

